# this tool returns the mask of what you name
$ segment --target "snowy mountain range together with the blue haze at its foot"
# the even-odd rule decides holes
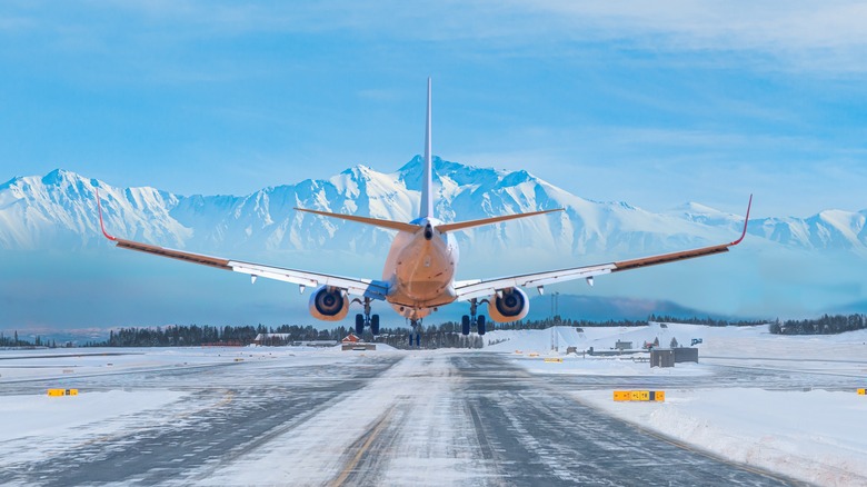
[[[29,279],[31,287],[23,292],[13,289],[20,281],[6,285],[8,306],[0,315],[0,328],[27,320],[41,302],[36,296],[54,296],[50,301],[61,308],[64,299],[83,299],[70,295],[83,291],[68,289],[76,287],[77,279],[84,279],[82,272],[110,278],[117,286],[103,291],[117,295],[103,305],[117,306],[112,318],[94,315],[87,324],[120,320],[118,315],[134,301],[128,291],[131,288],[139,292],[139,306],[166,306],[156,315],[137,314],[140,321],[134,322],[142,325],[182,319],[172,310],[190,309],[190,302],[196,302],[195,310],[181,316],[201,316],[191,318],[199,320],[240,316],[232,315],[229,304],[222,304],[226,310],[218,312],[217,306],[211,312],[212,306],[207,302],[229,300],[221,297],[222,292],[237,299],[243,316],[253,320],[306,312],[306,296],[293,298],[289,305],[267,306],[271,318],[251,311],[269,299],[285,301],[286,285],[235,290],[236,285],[220,282],[243,280],[240,276],[216,276],[211,269],[109,250],[111,242],[101,236],[98,226],[97,188],[106,226],[120,237],[283,267],[376,278],[391,242],[388,230],[303,215],[293,208],[409,221],[418,213],[420,170],[418,157],[389,173],[356,166],[329,179],[263,188],[248,196],[180,196],[157,188],[117,188],[61,169],[44,177],[13,178],[0,185],[0,248],[7,256],[6,272]],[[435,172],[436,212],[445,221],[566,209],[562,213],[459,232],[459,278],[542,270],[542,266],[599,264],[720,244],[736,239],[743,228],[743,215],[697,202],[655,213],[626,202],[587,200],[522,170],[501,171],[435,158]],[[746,210],[747,195],[744,197]],[[757,195],[756,205],[760,201]],[[866,219],[867,210],[755,219],[748,227],[749,237],[729,255],[605,277],[605,286],[580,289],[609,298],[628,296],[635,300],[635,309],[670,300],[684,309],[708,309],[727,316],[797,315],[835,306],[846,308],[847,304],[857,308],[865,299],[864,279],[851,264],[864,262],[867,256]],[[8,256],[13,257],[10,260]],[[72,284],[63,284],[62,279],[47,284],[57,276],[67,276]],[[233,290],[226,291],[221,286]],[[576,286],[562,290],[574,291]],[[452,307],[455,312],[444,311],[444,318],[465,312],[459,304]],[[48,311],[40,312],[43,317],[34,322],[51,321]],[[390,311],[383,308],[379,312],[386,316]]]

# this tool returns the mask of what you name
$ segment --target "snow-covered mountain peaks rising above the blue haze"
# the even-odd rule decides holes
[[[357,166],[325,180],[261,189],[243,197],[179,196],[117,188],[74,172],[21,177],[0,185],[0,248],[80,249],[107,245],[97,219],[124,238],[203,252],[265,254],[318,249],[383,256],[387,230],[303,215],[295,207],[409,221],[418,213],[421,160],[396,172]],[[526,171],[435,159],[437,216],[446,221],[566,208],[564,213],[460,232],[465,256],[532,249],[537,255],[640,255],[736,237],[743,216],[688,203],[654,213],[622,202],[590,201]],[[754,220],[749,233],[788,248],[867,255],[867,210]]]

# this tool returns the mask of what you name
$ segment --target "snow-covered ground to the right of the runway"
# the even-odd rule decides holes
[[[576,400],[604,409],[642,428],[714,453],[731,461],[780,471],[826,486],[867,484],[867,437],[860,427],[867,416],[867,330],[835,336],[770,335],[766,326],[706,327],[652,324],[637,329],[571,327],[547,330],[500,330],[486,335],[507,339],[486,350],[522,348],[515,360],[532,374],[672,377],[712,374],[715,365],[737,368],[831,374],[851,377],[851,389],[766,390],[763,388],[675,388],[665,402],[615,402],[614,389],[574,392]],[[551,350],[551,337],[566,346],[598,349],[615,340],[654,337],[702,338],[701,364],[650,368],[628,356],[621,359],[568,356]],[[495,338],[496,337],[496,338]],[[682,338],[682,339],[681,339]],[[486,338],[488,339],[488,338]],[[606,347],[607,348],[607,347]],[[539,354],[529,357],[529,354]],[[546,357],[564,362],[545,362]]]

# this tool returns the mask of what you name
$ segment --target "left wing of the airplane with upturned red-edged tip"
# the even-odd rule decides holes
[[[385,300],[386,295],[388,294],[388,282],[385,281],[372,279],[356,279],[350,277],[332,276],[328,274],[309,272],[306,270],[285,269],[281,267],[242,262],[225,259],[221,257],[211,257],[200,254],[186,252],[182,250],[173,250],[165,247],[138,242],[134,240],[118,238],[109,235],[106,231],[106,226],[102,221],[102,205],[99,201],[99,192],[97,192],[97,208],[99,209],[99,226],[102,229],[102,235],[104,235],[107,239],[116,242],[116,245],[120,248],[152,254],[155,256],[169,257],[172,259],[209,266],[217,269],[247,274],[252,276],[253,279],[257,277],[263,277],[267,279],[291,282],[302,287],[331,286],[345,289],[350,295],[363,296],[370,299]]]

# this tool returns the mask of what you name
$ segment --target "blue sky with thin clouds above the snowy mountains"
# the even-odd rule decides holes
[[[867,208],[867,4],[4,1],[0,180],[247,195],[421,152],[585,198]]]

